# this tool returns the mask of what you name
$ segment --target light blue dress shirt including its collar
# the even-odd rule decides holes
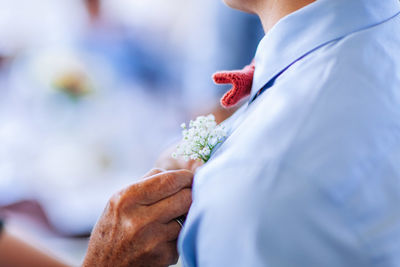
[[[400,266],[400,5],[318,0],[256,53],[196,174],[184,266]]]

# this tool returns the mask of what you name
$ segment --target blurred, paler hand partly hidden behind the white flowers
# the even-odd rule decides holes
[[[174,145],[165,150],[157,159],[155,167],[165,170],[189,170],[195,172],[196,169],[203,165],[199,160],[184,161],[183,159],[174,159],[171,155],[176,150]]]

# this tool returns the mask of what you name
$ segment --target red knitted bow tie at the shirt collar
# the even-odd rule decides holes
[[[232,88],[221,98],[221,105],[230,108],[250,95],[254,76],[254,61],[241,70],[221,71],[213,75],[216,84],[232,84]]]

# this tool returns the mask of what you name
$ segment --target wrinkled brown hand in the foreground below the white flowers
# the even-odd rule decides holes
[[[83,266],[169,266],[178,260],[193,173],[155,169],[145,180],[114,195],[95,226]]]

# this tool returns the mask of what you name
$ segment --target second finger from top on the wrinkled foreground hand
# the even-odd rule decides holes
[[[188,213],[192,204],[192,190],[182,189],[178,193],[149,206],[149,214],[153,220],[167,223]]]

